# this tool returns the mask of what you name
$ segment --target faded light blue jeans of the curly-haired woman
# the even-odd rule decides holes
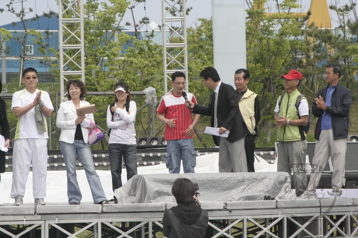
[[[80,203],[82,199],[81,191],[77,182],[76,174],[76,155],[82,163],[87,176],[89,188],[91,188],[94,203],[108,200],[104,194],[101,181],[97,175],[93,163],[91,148],[83,140],[75,140],[73,144],[61,141],[61,153],[67,172],[67,196],[70,202]]]

